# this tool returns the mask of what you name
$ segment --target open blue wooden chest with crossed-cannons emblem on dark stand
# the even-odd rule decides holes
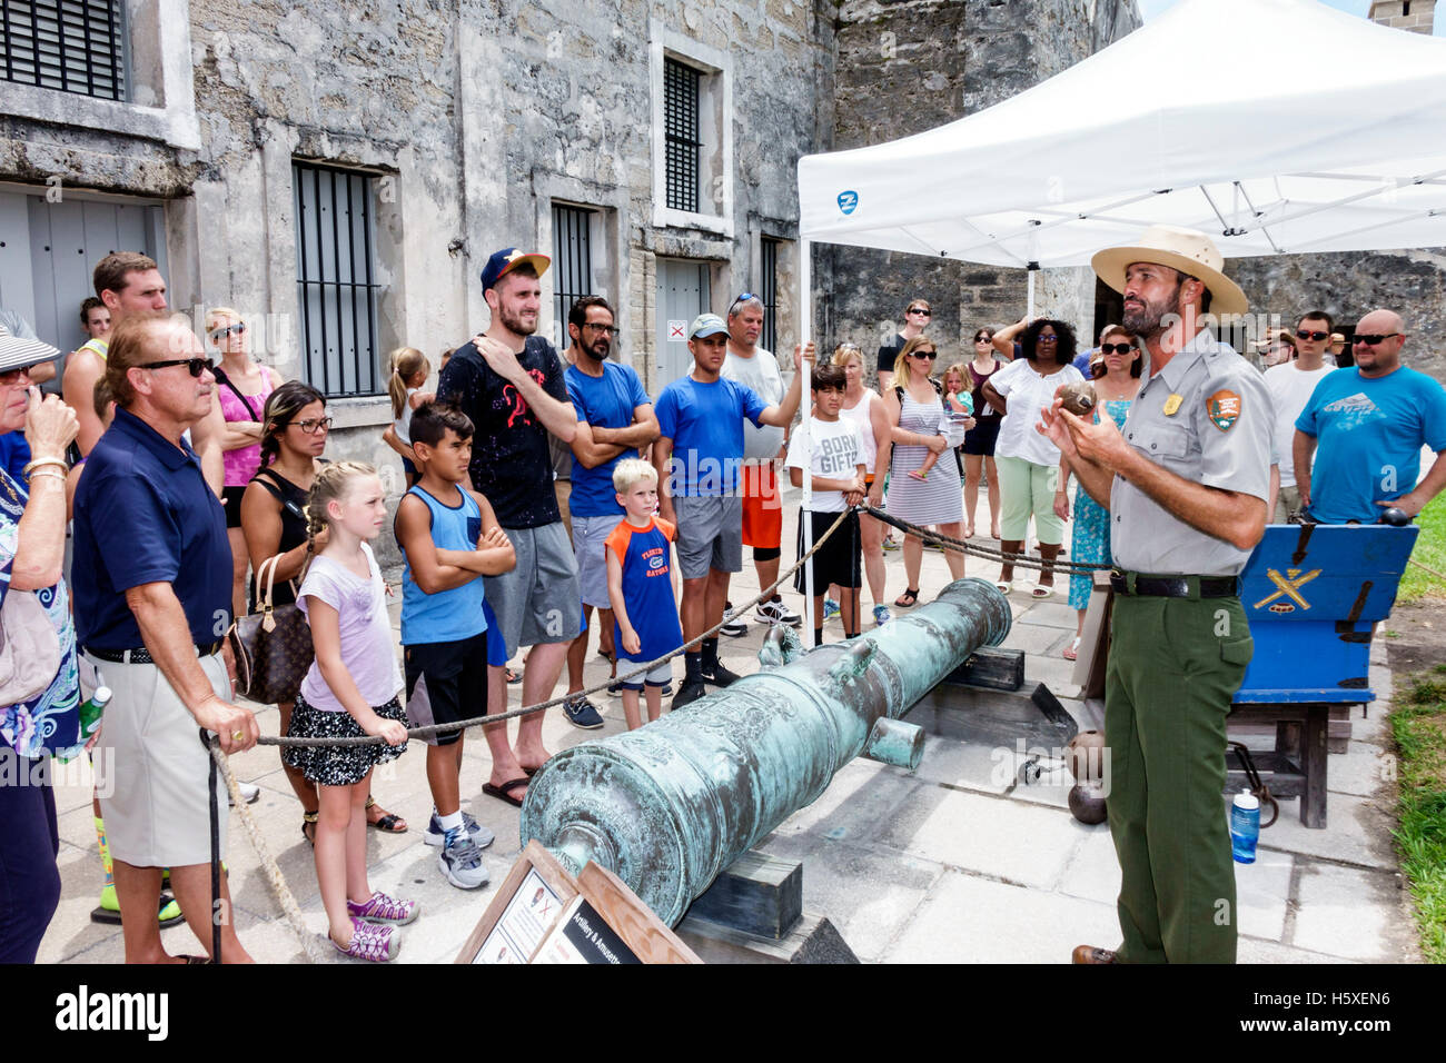
[[[1271,525],[1241,574],[1255,657],[1232,723],[1274,723],[1257,754],[1275,797],[1300,797],[1307,827],[1326,826],[1330,709],[1375,700],[1371,636],[1391,613],[1419,529],[1407,525]],[[1238,791],[1244,771],[1232,771]]]

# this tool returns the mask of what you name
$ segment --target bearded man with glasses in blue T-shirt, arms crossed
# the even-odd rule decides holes
[[[567,651],[567,693],[583,688],[583,662],[587,659],[589,618],[597,609],[597,649],[613,658],[613,610],[607,600],[607,537],[623,519],[613,487],[613,469],[626,457],[638,457],[638,450],[658,438],[658,418],[652,399],[638,379],[638,370],[620,362],[609,362],[613,347],[613,308],[602,295],[587,295],[567,312],[567,336],[571,340],[562,373],[567,396],[577,411],[577,434],[573,437],[573,551],[577,554],[577,577],[583,584],[583,633]],[[602,717],[586,697],[571,699],[564,706],[570,720],[578,726]],[[591,714],[587,710],[591,709]]]

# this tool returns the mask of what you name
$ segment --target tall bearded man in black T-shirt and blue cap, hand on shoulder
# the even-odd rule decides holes
[[[471,486],[487,496],[518,558],[510,573],[484,577],[487,605],[497,620],[487,642],[506,649],[495,658],[497,664],[487,665],[487,703],[499,713],[508,704],[508,658],[532,646],[522,703],[544,701],[552,696],[568,642],[581,628],[577,558],[552,492],[548,451],[548,432],[571,444],[577,414],[557,350],[534,336],[542,307],[538,278],[548,265],[545,255],[516,247],[487,259],[482,292],[492,324],[457,349],[437,385],[437,398],[455,402],[476,427]],[[505,723],[483,733],[492,751],[492,778],[483,793],[521,806],[528,775],[551,755],[542,746],[542,713],[522,717],[515,749]]]

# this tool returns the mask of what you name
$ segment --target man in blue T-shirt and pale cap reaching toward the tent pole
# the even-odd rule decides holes
[[[719,376],[727,359],[727,325],[717,314],[700,314],[688,328],[693,372],[658,396],[658,512],[678,529],[683,574],[683,638],[688,642],[723,622],[732,573],[743,568],[743,499],[737,490],[743,464],[743,418],[755,425],[787,428],[798,412],[800,382],[808,350],[794,349],[794,380],[782,402],[769,406],[748,385]],[[576,490],[576,487],[574,487]],[[703,639],[684,655],[687,675],[672,699],[681,709],[704,694],[704,681],[726,687],[737,678],[719,664],[717,638]]]

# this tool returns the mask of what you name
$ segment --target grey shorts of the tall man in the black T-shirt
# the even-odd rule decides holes
[[[577,558],[562,522],[502,531],[512,539],[518,567],[484,579],[487,605],[497,616],[508,657],[522,646],[571,642],[583,629],[583,600]]]

